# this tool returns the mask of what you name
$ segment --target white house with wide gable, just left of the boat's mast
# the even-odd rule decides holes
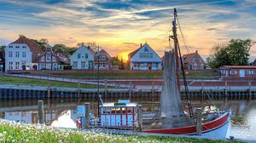
[[[162,60],[148,43],[128,54],[131,70],[162,70]]]

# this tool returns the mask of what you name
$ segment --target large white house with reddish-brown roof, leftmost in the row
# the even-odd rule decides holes
[[[20,36],[5,48],[5,71],[38,70],[38,55],[43,52],[34,40]]]

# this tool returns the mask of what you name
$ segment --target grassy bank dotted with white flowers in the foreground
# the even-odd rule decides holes
[[[25,125],[20,123],[0,122],[0,142],[115,142],[115,143],[135,143],[135,142],[227,142],[224,140],[199,140],[191,138],[157,137],[157,136],[130,136],[116,134],[102,134],[94,132],[81,132],[70,129],[54,129],[45,126]]]

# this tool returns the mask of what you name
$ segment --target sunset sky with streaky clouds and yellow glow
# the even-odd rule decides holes
[[[95,42],[127,59],[148,43],[161,56],[173,48],[173,8],[183,54],[198,50],[205,58],[232,38],[256,40],[256,0],[0,0],[0,44],[20,34],[51,45]]]

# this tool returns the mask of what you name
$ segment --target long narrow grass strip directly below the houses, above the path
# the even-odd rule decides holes
[[[54,76],[62,76],[62,77],[83,77],[83,78],[96,78],[96,72],[93,71],[79,71],[79,72],[44,72],[44,75],[54,75]],[[99,73],[100,78],[161,78],[163,77],[163,71],[128,71],[128,70],[120,70],[120,71],[101,71]],[[206,72],[189,72],[187,77],[193,78],[212,78],[214,77],[214,72],[206,71]]]

